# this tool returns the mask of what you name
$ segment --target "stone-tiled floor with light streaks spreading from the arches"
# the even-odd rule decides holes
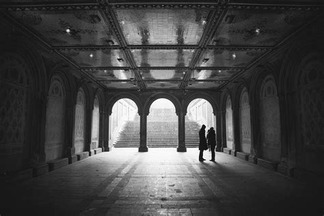
[[[4,187],[0,215],[323,215],[316,185],[187,150],[115,148]]]

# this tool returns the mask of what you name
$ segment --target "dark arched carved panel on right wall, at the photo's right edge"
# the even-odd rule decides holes
[[[297,163],[302,169],[323,173],[324,159],[321,153],[324,149],[323,62],[309,62],[301,68],[298,88],[297,135],[300,135],[300,138],[297,139],[299,141]]]

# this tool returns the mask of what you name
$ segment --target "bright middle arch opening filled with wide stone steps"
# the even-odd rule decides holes
[[[149,148],[178,146],[178,116],[176,107],[165,98],[154,100],[148,115],[147,145]]]

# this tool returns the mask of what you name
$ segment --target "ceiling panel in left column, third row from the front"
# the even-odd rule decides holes
[[[85,70],[97,80],[125,80],[134,78],[131,70]]]

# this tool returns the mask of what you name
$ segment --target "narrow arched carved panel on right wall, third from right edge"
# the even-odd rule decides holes
[[[240,98],[240,147],[242,152],[250,153],[251,150],[251,118],[249,111],[249,94],[246,88],[241,92]]]

